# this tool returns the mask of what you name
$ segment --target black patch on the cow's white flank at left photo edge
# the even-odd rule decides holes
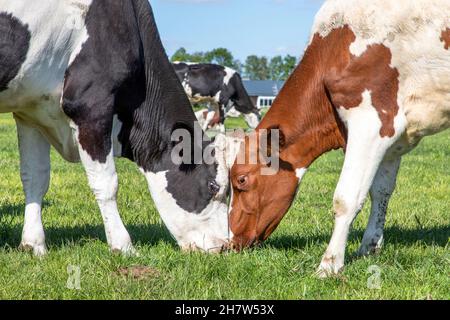
[[[11,14],[0,13],[0,91],[8,89],[27,57],[31,34]]]

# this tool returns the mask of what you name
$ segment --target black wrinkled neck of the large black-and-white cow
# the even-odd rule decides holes
[[[167,58],[149,3],[133,4],[144,63],[121,94],[128,123],[121,132],[123,155],[145,171],[154,171],[170,153],[172,131],[179,124],[194,131],[196,118]]]

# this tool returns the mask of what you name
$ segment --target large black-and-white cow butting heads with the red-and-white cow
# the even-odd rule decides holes
[[[180,246],[216,251],[227,241],[224,162],[172,161],[180,146],[172,133],[194,131],[196,118],[147,0],[0,0],[0,91],[0,112],[13,113],[18,130],[22,247],[46,252],[50,145],[82,162],[112,250],[133,252],[116,203],[114,156],[141,169]]]

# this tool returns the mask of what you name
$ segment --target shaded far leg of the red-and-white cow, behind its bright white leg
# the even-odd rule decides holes
[[[373,254],[381,249],[386,211],[395,189],[400,162],[400,157],[384,160],[375,176],[370,189],[372,208],[369,223],[358,251],[361,256]]]

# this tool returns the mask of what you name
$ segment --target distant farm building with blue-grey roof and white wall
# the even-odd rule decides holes
[[[244,87],[258,109],[270,108],[284,81],[244,80]]]

